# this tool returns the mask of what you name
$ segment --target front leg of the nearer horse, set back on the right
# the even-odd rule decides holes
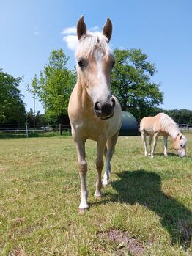
[[[97,158],[95,160],[95,166],[97,169],[97,181],[96,181],[96,191],[95,191],[95,197],[101,197],[101,172],[103,170],[103,154],[106,147],[106,140],[103,139],[103,141],[97,142]]]

